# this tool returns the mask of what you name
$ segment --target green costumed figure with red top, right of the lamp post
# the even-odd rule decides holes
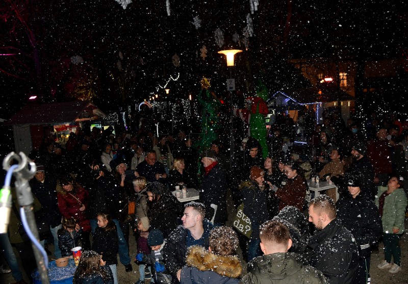
[[[247,100],[251,100],[251,117],[249,122],[250,136],[257,139],[261,144],[264,158],[268,156],[269,152],[266,143],[265,126],[265,116],[268,114],[268,105],[265,101],[268,97],[267,86],[261,81],[258,81],[256,97],[247,98]]]

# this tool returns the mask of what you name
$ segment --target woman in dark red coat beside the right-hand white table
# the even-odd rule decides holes
[[[286,206],[295,206],[303,212],[308,183],[302,176],[299,164],[297,162],[286,163],[284,173],[288,177],[288,181],[276,191],[276,197],[279,199],[279,211]]]

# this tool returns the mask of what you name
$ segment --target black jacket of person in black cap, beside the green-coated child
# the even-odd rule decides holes
[[[350,194],[336,203],[337,218],[354,236],[359,246],[360,258],[369,257],[371,246],[378,243],[382,235],[381,219],[374,202],[364,195],[352,198]]]

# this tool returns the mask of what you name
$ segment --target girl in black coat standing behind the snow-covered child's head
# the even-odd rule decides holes
[[[118,264],[118,234],[112,217],[107,212],[99,212],[96,219],[98,227],[93,234],[92,250],[102,256],[102,259],[111,268],[114,284],[118,284],[116,265]]]

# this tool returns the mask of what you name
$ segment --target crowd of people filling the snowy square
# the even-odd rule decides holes
[[[381,240],[377,268],[398,273],[408,124],[373,115],[363,133],[358,122],[327,115],[308,129],[310,147],[295,147],[287,125],[271,128],[267,149],[249,136],[234,153],[220,140],[197,149],[183,130],[155,137],[94,127],[71,133],[64,146],[44,140],[30,153],[33,209],[47,227],[41,244],[54,243],[56,258],[82,247],[73,283],[117,284],[119,262],[126,272],[136,263],[137,284],[369,283]],[[334,183],[340,198],[336,189],[313,197],[308,182],[316,176]],[[199,199],[181,203],[172,192],[183,186],[197,188]],[[229,199],[243,204],[249,238],[228,226]],[[13,277],[25,283],[10,248],[29,278],[35,261],[17,208],[0,240]],[[130,238],[137,251],[129,251]]]

